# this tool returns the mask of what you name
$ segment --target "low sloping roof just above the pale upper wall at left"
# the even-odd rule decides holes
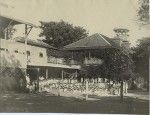
[[[25,38],[24,38],[24,37],[17,37],[17,38],[15,38],[15,41],[16,41],[16,42],[20,42],[20,43],[25,43]],[[42,40],[32,40],[32,39],[28,39],[28,40],[27,40],[27,44],[28,44],[28,45],[38,46],[38,47],[56,49],[56,48],[54,48],[53,46],[50,46],[50,45],[46,44],[46,43],[43,42]]]

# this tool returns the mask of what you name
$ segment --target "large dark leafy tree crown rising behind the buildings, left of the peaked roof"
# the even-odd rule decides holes
[[[39,36],[45,36],[44,42],[57,48],[62,48],[88,35],[84,28],[73,26],[64,21],[41,22],[41,28],[42,32]]]

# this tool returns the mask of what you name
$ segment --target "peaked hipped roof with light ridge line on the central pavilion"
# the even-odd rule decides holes
[[[66,45],[64,47],[64,50],[100,49],[110,47],[119,48],[119,46],[110,38],[96,33],[69,45]]]

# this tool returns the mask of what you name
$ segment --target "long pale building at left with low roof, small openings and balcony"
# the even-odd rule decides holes
[[[19,67],[25,68],[27,64],[27,69],[39,68],[42,71],[45,77],[51,77],[51,72],[57,70],[55,77],[58,75],[61,70],[78,70],[80,69],[79,65],[71,64],[71,62],[66,62],[66,59],[63,58],[63,52],[61,51],[61,56],[56,56],[60,51],[56,48],[42,42],[41,40],[27,40],[27,46],[24,44],[25,39],[18,37],[15,40],[5,40],[1,39],[1,56],[14,57],[19,63]],[[26,47],[26,48],[25,48]],[[53,52],[49,54],[48,52]],[[27,54],[27,58],[26,58]],[[45,72],[44,72],[45,71]],[[51,71],[51,72],[50,72]],[[43,73],[44,72],[44,73]]]

